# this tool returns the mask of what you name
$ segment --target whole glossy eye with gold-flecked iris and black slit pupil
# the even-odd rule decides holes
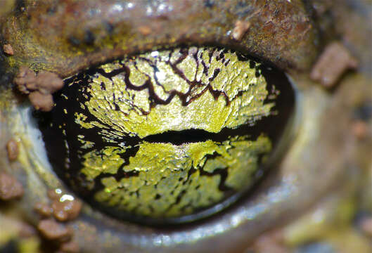
[[[172,222],[217,212],[255,186],[294,103],[278,70],[197,47],[93,67],[54,99],[39,125],[65,183],[113,216]]]

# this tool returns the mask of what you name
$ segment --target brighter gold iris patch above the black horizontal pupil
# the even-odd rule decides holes
[[[222,50],[214,51],[209,56],[204,48],[190,48],[188,57],[175,65],[185,74],[186,79],[182,79],[168,63],[177,63],[181,58],[179,51],[160,51],[155,54],[156,57],[152,53],[125,61],[130,70],[129,81],[138,87],[146,84],[149,79],[155,94],[162,100],[167,100],[172,91],[183,95],[190,91],[184,99],[184,103],[188,105],[184,106],[181,98],[174,96],[169,104],[150,108],[148,89],[127,89],[124,73],[117,74],[112,79],[98,74],[86,91],[91,98],[85,106],[92,115],[117,131],[117,134],[143,138],[184,129],[204,129],[218,133],[224,127],[233,129],[255,117],[266,116],[274,105],[264,104],[268,94],[264,77],[255,77],[255,68],[249,67],[249,61],[238,60],[236,53],[224,53],[222,60]],[[197,60],[191,56],[192,53],[195,53]],[[207,65],[207,72],[203,72],[202,60]],[[120,65],[110,63],[103,66],[105,71],[119,68]],[[214,78],[217,70],[219,72]],[[193,86],[186,81],[196,84]],[[101,88],[102,82],[105,89]],[[220,95],[216,99],[212,92],[206,92],[207,89],[226,93],[226,97]],[[229,106],[225,106],[226,102]],[[115,110],[114,104],[119,110]],[[96,122],[91,124],[96,126]]]

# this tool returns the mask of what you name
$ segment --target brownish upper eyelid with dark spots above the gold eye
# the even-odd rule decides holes
[[[13,66],[26,64],[61,77],[125,54],[180,44],[224,46],[283,70],[309,69],[318,35],[302,1],[207,3],[37,2],[9,18],[3,35],[15,51]],[[249,28],[237,40],[231,34],[240,21]]]

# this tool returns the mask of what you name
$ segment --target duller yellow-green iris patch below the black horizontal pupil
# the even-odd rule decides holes
[[[271,143],[264,136],[257,141],[244,139],[184,145],[141,143],[136,156],[123,167],[124,171],[139,171],[138,176],[119,182],[113,176],[103,179],[105,188],[96,193],[96,200],[145,216],[191,214],[195,207],[210,206],[224,197],[219,187],[222,175],[214,172],[227,169],[224,185],[228,188],[238,190],[252,183],[257,155],[268,153]],[[196,171],[190,176],[192,169]]]

